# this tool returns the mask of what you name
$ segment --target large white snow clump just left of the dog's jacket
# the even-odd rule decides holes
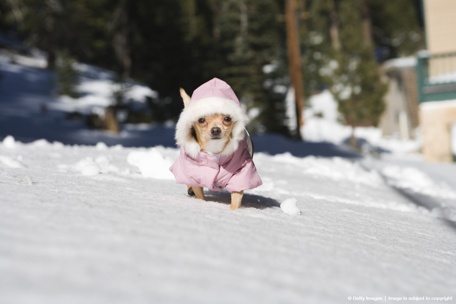
[[[164,157],[156,147],[147,151],[130,152],[127,162],[138,167],[144,177],[174,180],[174,175],[169,170],[172,160]]]

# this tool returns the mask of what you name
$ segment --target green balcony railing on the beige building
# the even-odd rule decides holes
[[[456,99],[456,52],[421,52],[416,65],[420,102]]]

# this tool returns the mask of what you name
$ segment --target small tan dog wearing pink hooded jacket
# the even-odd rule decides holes
[[[247,116],[231,87],[220,79],[195,90],[194,99],[182,88],[180,93],[184,110],[176,125],[176,142],[181,155],[170,168],[176,182],[187,184],[187,193],[201,200],[203,186],[213,191],[226,187],[231,192],[230,209],[239,208],[244,190],[262,184],[245,130]]]

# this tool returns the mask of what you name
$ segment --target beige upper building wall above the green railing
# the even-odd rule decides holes
[[[426,45],[432,54],[456,52],[456,0],[424,0]]]

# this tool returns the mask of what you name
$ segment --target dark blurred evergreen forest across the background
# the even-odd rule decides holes
[[[381,63],[424,47],[420,1],[295,5],[305,100],[327,88],[345,124],[376,125],[387,90]],[[289,135],[285,19],[285,0],[0,1],[0,31],[47,52],[47,68],[63,54],[143,82],[160,94],[158,122],[180,113],[179,87],[191,93],[218,77],[245,106],[251,131]]]

